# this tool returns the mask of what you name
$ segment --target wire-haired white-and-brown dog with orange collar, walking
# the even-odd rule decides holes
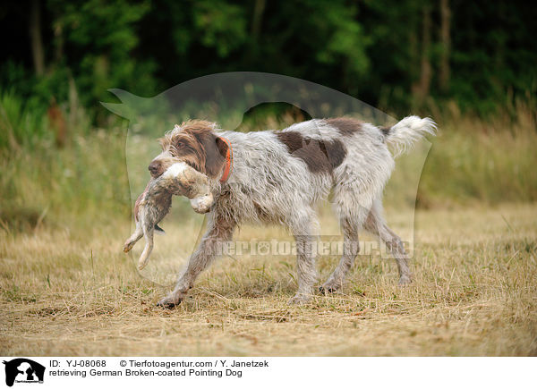
[[[399,284],[411,283],[403,243],[383,217],[382,192],[395,167],[394,156],[435,131],[436,123],[417,116],[386,128],[348,117],[248,133],[223,131],[202,120],[175,125],[159,140],[162,152],[149,164],[149,173],[158,178],[171,165],[190,165],[207,176],[214,202],[199,247],[174,291],[158,305],[179,304],[215,259],[217,244],[231,241],[234,229],[245,222],[283,224],[294,234],[298,291],[289,302],[308,302],[317,277],[311,250],[319,225],[314,207],[328,194],[343,232],[344,252],[320,291],[335,292],[343,285],[358,254],[354,243],[362,227],[391,251]]]

